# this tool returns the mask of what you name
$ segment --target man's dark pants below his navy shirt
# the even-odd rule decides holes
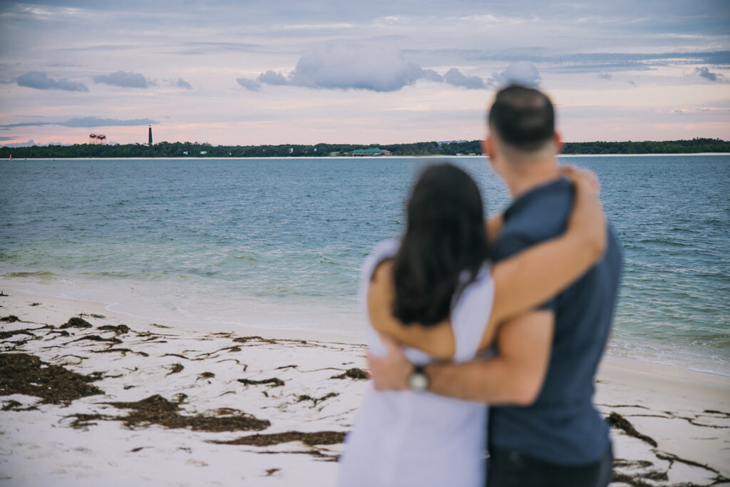
[[[611,445],[601,459],[580,467],[564,467],[517,451],[490,448],[487,487],[606,487],[612,478]]]

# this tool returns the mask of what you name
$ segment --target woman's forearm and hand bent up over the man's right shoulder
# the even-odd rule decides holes
[[[575,166],[565,166],[561,169],[575,185],[575,204],[568,220],[567,233],[585,240],[590,246],[596,260],[606,250],[607,224],[601,200],[601,186],[593,172]]]

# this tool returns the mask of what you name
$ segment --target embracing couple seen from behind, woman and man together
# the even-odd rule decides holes
[[[429,166],[407,229],[361,274],[372,383],[339,486],[604,487],[593,378],[621,253],[593,175],[558,167],[545,94],[496,94],[483,142],[514,201],[485,222],[474,181]],[[488,455],[487,452],[488,451]]]

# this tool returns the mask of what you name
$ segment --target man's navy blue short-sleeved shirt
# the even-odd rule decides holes
[[[499,261],[562,234],[574,188],[560,178],[523,194],[504,212],[493,244]],[[526,407],[492,407],[490,448],[517,450],[560,465],[590,464],[608,446],[608,426],[593,407],[593,377],[606,346],[621,277],[621,250],[609,229],[601,260],[541,309],[555,314],[545,383]]]

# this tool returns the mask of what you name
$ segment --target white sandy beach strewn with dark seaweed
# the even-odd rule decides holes
[[[334,485],[363,345],[4,291],[0,486]],[[612,486],[730,486],[728,377],[607,357],[596,404]]]

